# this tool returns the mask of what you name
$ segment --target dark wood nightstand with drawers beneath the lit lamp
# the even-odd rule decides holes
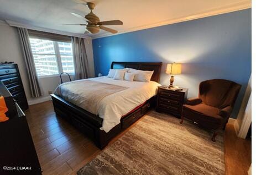
[[[157,112],[165,112],[175,117],[181,117],[182,106],[187,99],[189,89],[180,87],[180,91],[169,89],[168,86],[158,87]]]

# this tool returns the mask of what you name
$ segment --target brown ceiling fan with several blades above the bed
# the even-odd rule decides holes
[[[92,13],[92,10],[95,8],[95,4],[92,2],[86,3],[87,7],[91,10],[90,13],[82,17],[80,14],[71,13],[76,17],[82,18],[87,22],[87,24],[65,24],[65,25],[84,25],[86,26],[85,34],[90,32],[91,34],[96,34],[100,31],[100,29],[111,32],[112,34],[116,34],[117,30],[107,28],[103,25],[123,25],[121,20],[110,20],[110,21],[100,21],[100,18],[97,17],[96,14]]]

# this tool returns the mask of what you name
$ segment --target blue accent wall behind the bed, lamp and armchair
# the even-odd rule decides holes
[[[163,62],[160,83],[169,84],[166,63],[182,63],[174,84],[198,95],[207,79],[242,85],[232,117],[236,118],[251,74],[251,9],[94,39],[95,74],[107,75],[112,61]],[[125,21],[124,21],[125,23]]]

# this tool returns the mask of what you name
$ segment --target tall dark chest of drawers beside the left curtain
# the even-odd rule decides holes
[[[17,64],[0,64],[0,80],[11,92],[14,100],[23,111],[28,109],[28,101],[25,95],[22,79],[20,78]]]

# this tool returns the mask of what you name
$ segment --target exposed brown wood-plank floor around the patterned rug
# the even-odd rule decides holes
[[[55,116],[51,101],[29,106],[25,114],[43,174],[76,174],[101,152],[86,136]],[[246,174],[251,162],[250,141],[236,138],[233,125],[227,126],[224,138],[226,174]]]

